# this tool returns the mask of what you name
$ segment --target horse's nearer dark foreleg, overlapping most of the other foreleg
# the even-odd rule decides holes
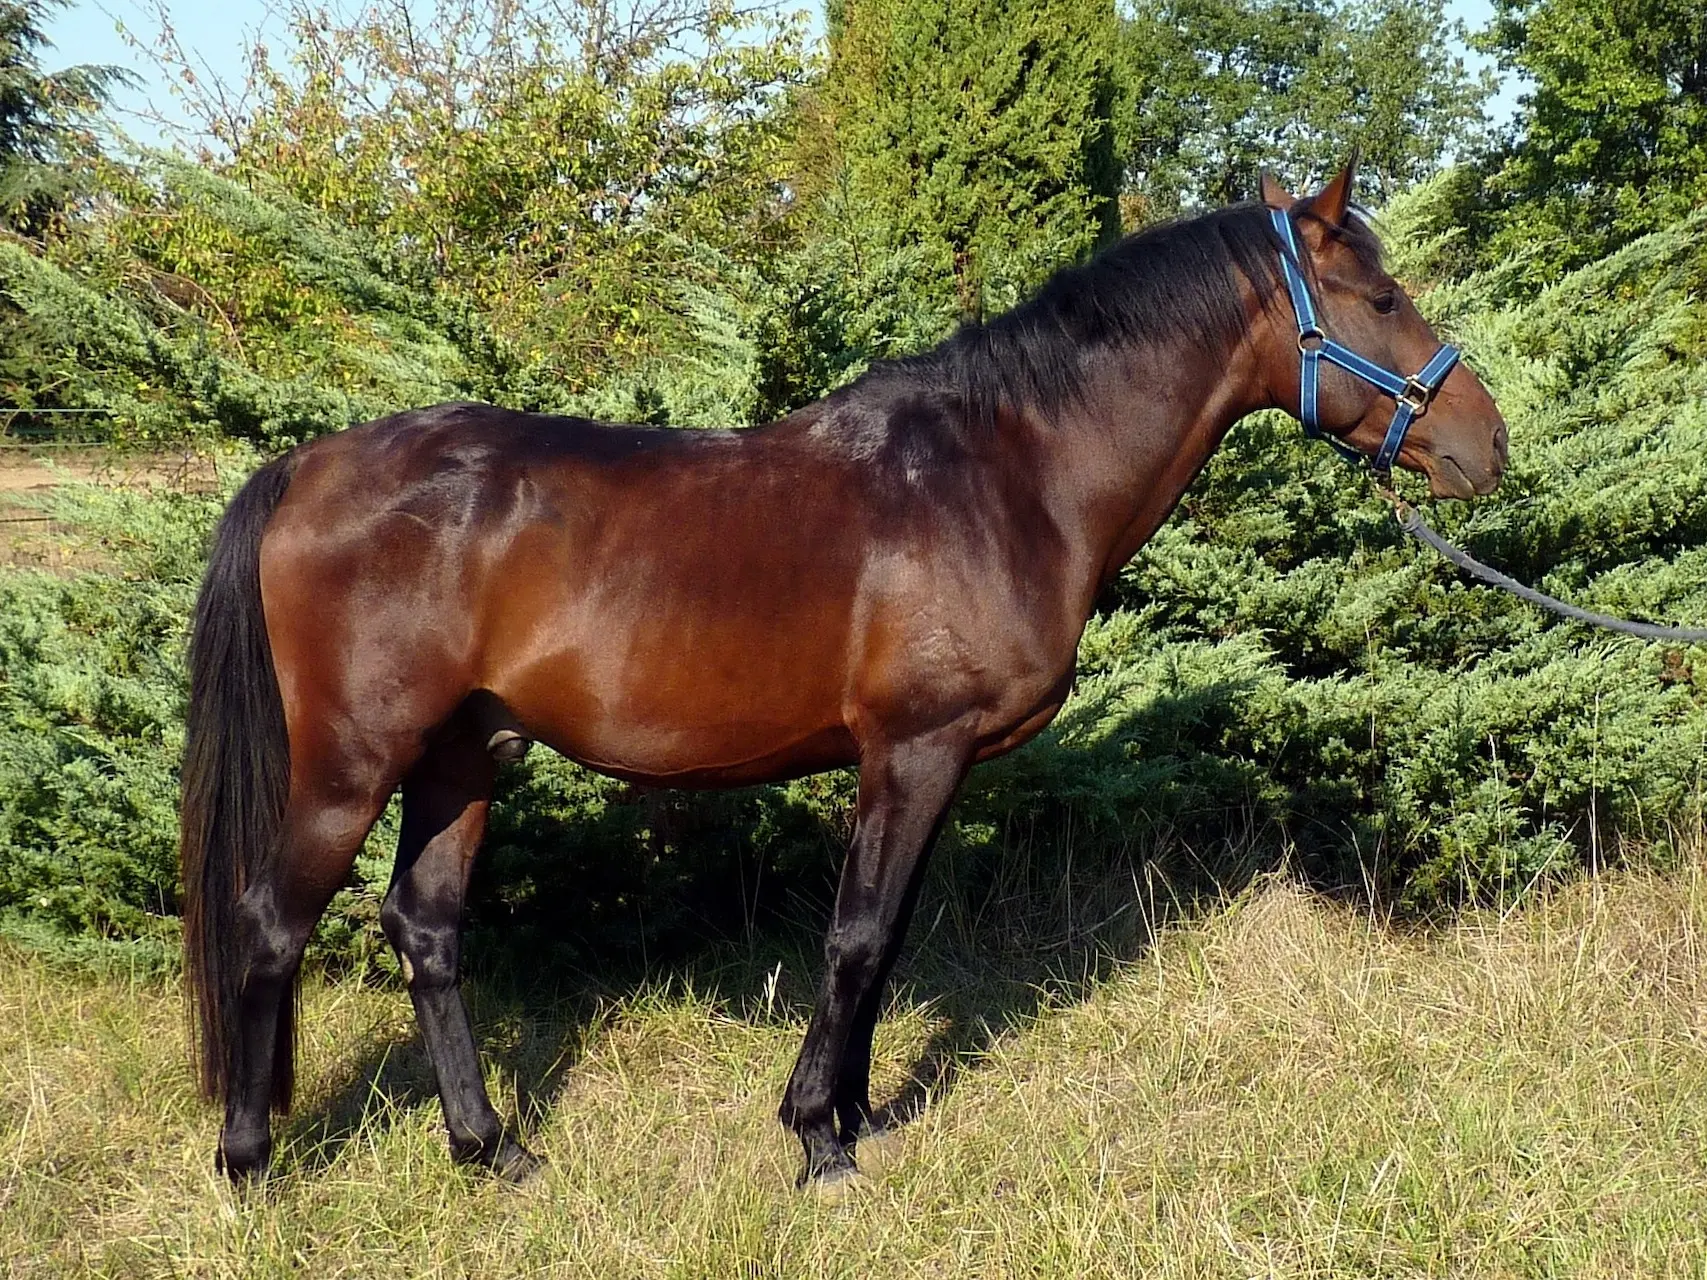
[[[966,737],[959,732],[865,744],[859,823],[824,939],[824,980],[782,1099],[782,1123],[806,1147],[802,1184],[854,1169],[836,1133],[836,1111],[845,1130],[857,1130],[871,1113],[865,1082],[883,980],[894,963],[925,855],[966,771]],[[850,1055],[860,1062],[850,1063]]]

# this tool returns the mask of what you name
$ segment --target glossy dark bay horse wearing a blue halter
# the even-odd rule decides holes
[[[497,761],[539,741],[657,787],[859,768],[780,1111],[802,1183],[852,1172],[956,788],[1062,708],[1098,591],[1232,423],[1302,415],[1436,497],[1499,483],[1499,410],[1383,270],[1350,188],[1352,166],[1304,200],[1265,177],[1261,201],[1130,236],[765,427],[440,404],[263,466],[218,526],[189,645],[184,951],[220,1167],[270,1161],[304,945],[401,787],[381,922],[451,1152],[534,1171],[486,1097],[457,968]]]

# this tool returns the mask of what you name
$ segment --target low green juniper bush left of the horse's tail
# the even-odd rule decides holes
[[[217,503],[73,486],[50,510],[111,572],[0,572],[0,910],[159,937],[176,910],[183,633]]]

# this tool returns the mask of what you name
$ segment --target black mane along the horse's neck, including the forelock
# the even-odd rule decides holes
[[[1379,265],[1381,246],[1360,218],[1347,218],[1333,234],[1360,261]],[[1309,263],[1306,273],[1314,275]],[[1012,311],[963,324],[930,352],[874,365],[860,381],[898,379],[956,394],[982,420],[1004,403],[1053,411],[1079,398],[1089,350],[1181,338],[1226,346],[1243,338],[1239,276],[1265,300],[1282,299],[1280,237],[1265,205],[1232,205],[1127,236],[1057,271]]]

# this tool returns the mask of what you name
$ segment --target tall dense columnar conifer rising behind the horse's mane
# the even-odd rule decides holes
[[[1110,0],[843,0],[828,17],[804,188],[855,270],[915,251],[947,323],[1118,230]]]

